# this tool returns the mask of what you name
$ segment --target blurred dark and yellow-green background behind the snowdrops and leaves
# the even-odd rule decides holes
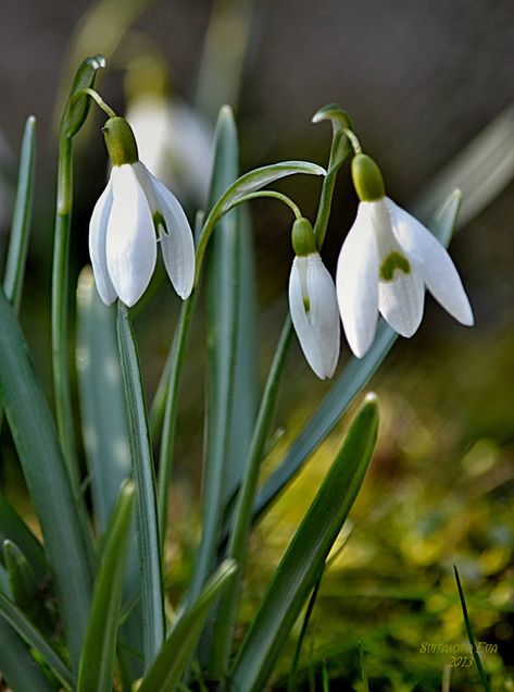
[[[128,114],[139,133],[141,159],[180,194],[191,218],[205,205],[212,132],[225,102],[237,118],[241,171],[284,159],[326,165],[329,127],[312,125],[311,118],[325,103],[338,102],[351,113],[364,150],[379,162],[389,195],[406,208],[417,203],[425,220],[434,207],[423,190],[438,190],[442,200],[455,185],[455,160],[461,162],[465,223],[451,254],[476,326],[459,325],[427,297],[419,332],[397,343],[371,384],[383,404],[377,454],[346,533],[348,543],[318,595],[302,657],[305,689],[317,689],[325,666],[331,679],[359,690],[359,641],[372,689],[439,690],[449,679],[451,690],[478,689],[474,668],[444,674],[448,655],[419,653],[423,642],[465,641],[453,564],[461,570],[477,635],[498,645],[497,653],[485,655],[493,689],[514,689],[507,668],[514,650],[513,39],[514,5],[507,0],[0,3],[0,247],[3,258],[17,149],[33,113],[38,120],[37,198],[22,322],[49,391],[57,132],[84,55],[108,58],[99,90],[116,112]],[[88,261],[89,215],[106,176],[102,115],[91,112],[76,141],[76,274]],[[314,217],[318,182],[298,176],[280,189]],[[324,249],[330,270],[355,208],[343,170]],[[265,373],[287,309],[290,219],[274,202],[255,202],[251,215]],[[138,323],[149,394],[178,307],[165,284],[154,282]],[[193,363],[203,358],[203,339],[200,319]],[[341,368],[346,360],[348,350]],[[329,386],[315,380],[297,345],[285,382],[277,412],[284,434],[267,468]],[[198,510],[203,386],[195,366],[188,367],[177,441],[172,598],[187,578],[196,540],[189,517]],[[260,524],[243,620],[343,429],[344,421]],[[3,448],[10,456],[9,441]],[[15,466],[3,465],[1,473],[23,506]]]

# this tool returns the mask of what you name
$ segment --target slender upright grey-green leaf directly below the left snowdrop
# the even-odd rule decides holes
[[[141,568],[145,668],[164,642],[164,596],[158,507],[147,407],[136,339],[127,308],[118,301],[117,339],[127,409],[133,475],[136,481],[136,528]]]

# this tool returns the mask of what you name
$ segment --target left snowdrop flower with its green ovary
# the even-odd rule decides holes
[[[195,280],[195,245],[186,214],[172,193],[138,159],[136,140],[123,118],[110,118],[105,145],[113,168],[89,224],[89,254],[98,293],[128,307],[145,293],[158,244],[172,284],[187,298]]]

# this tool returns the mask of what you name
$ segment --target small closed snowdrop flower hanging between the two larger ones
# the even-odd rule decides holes
[[[289,276],[289,309],[303,354],[321,380],[331,378],[339,358],[336,288],[306,219],[292,226],[296,252]]]

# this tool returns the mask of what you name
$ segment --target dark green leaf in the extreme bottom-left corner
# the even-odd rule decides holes
[[[25,642],[0,617],[0,670],[11,690],[15,692],[54,692],[41,668],[34,660]],[[72,685],[65,685],[71,690]]]

